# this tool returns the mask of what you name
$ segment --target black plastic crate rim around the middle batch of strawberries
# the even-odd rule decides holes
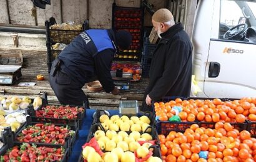
[[[13,136],[13,140],[16,141],[17,143],[23,143],[23,142],[20,142],[20,141],[17,141],[16,138],[19,136],[19,133],[22,132],[22,130],[26,129],[27,126],[29,125],[36,125],[38,124],[38,122],[32,122],[31,121],[31,117],[27,117],[27,123],[22,126],[21,130],[19,130],[14,136]],[[46,124],[46,123],[42,123],[42,124]],[[65,143],[64,145],[61,145],[61,144],[53,144],[53,143],[44,143],[46,146],[64,146],[64,148],[66,149],[70,149],[72,146],[74,146],[74,143],[77,139],[77,133],[78,133],[78,129],[74,126],[74,125],[63,125],[63,124],[55,124],[55,126],[69,126],[71,129],[70,130],[73,130],[74,131],[74,135],[73,136],[67,136],[67,138],[65,138]],[[40,144],[38,142],[28,142],[30,144],[32,143],[35,143],[36,145],[37,144]]]

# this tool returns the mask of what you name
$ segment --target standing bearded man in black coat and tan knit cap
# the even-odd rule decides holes
[[[165,96],[189,97],[192,76],[192,44],[182,24],[175,24],[168,9],[156,11],[152,24],[160,41],[154,50],[149,85],[144,93],[148,106],[152,100]]]

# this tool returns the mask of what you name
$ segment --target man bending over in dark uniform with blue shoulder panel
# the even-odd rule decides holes
[[[128,49],[132,36],[127,31],[89,29],[77,36],[52,62],[50,85],[63,105],[82,105],[88,98],[82,87],[97,75],[104,90],[117,95],[111,64],[118,49]],[[89,105],[87,105],[89,108]]]

